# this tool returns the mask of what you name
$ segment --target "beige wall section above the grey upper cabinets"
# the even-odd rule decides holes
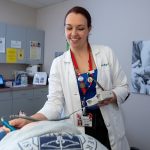
[[[36,10],[8,0],[0,0],[0,22],[36,26]]]

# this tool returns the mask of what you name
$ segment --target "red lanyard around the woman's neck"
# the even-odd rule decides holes
[[[88,60],[89,71],[91,71],[93,69],[93,67],[92,67],[92,59],[91,59],[91,55],[90,55],[90,46],[89,45],[88,45],[88,52],[89,52],[89,60]],[[77,61],[76,61],[75,56],[72,51],[71,51],[71,58],[72,58],[72,62],[73,62],[73,65],[74,65],[77,75],[80,75],[79,67],[78,67]]]

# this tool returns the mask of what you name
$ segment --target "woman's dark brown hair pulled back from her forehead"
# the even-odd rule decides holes
[[[65,20],[64,20],[64,25],[66,22],[66,18],[70,13],[82,14],[87,19],[88,28],[91,27],[91,15],[90,15],[90,13],[85,8],[80,7],[80,6],[75,6],[67,12],[67,14],[65,16]]]

